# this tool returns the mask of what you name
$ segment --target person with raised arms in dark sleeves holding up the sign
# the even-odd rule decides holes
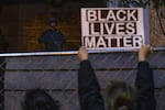
[[[155,110],[153,72],[146,61],[151,47],[143,45],[139,51],[136,92],[125,82],[116,82],[108,87],[108,110]],[[78,97],[81,110],[106,110],[100,86],[94,68],[88,61],[88,52],[80,47],[78,69]]]

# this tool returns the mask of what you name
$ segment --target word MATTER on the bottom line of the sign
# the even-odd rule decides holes
[[[101,48],[101,47],[139,47],[142,45],[142,36],[85,36],[85,46],[88,48]]]

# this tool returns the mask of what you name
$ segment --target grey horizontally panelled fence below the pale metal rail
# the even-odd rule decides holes
[[[157,110],[164,110],[165,107],[164,56],[164,52],[154,52],[150,57],[154,69]],[[90,54],[89,59],[97,73],[103,96],[105,88],[111,80],[124,80],[134,87],[136,52]],[[79,110],[77,97],[79,61],[76,55],[6,57],[6,63],[3,81],[6,110],[22,110],[24,94],[34,88],[48,91],[61,101],[62,110]]]

